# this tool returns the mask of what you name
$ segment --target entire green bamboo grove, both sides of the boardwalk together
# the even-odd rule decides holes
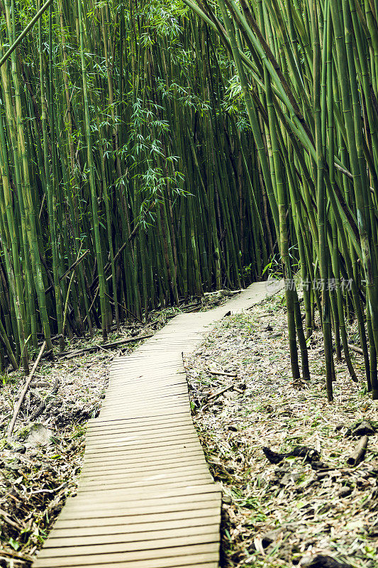
[[[350,322],[378,398],[377,0],[54,0],[0,72],[3,365],[279,252],[294,381],[317,311],[328,400]]]

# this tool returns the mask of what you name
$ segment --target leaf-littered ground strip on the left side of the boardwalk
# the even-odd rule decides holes
[[[30,566],[67,497],[74,495],[87,421],[99,414],[113,359],[131,353],[143,342],[139,336],[155,333],[174,315],[208,310],[227,299],[210,293],[180,308],[151,312],[147,323],[124,325],[109,335],[108,342],[133,339],[116,349],[101,346],[101,332],[92,339],[67,340],[67,356],[43,359],[38,366],[10,444],[6,431],[23,373],[0,375],[0,567]],[[100,347],[75,355],[93,346]]]

